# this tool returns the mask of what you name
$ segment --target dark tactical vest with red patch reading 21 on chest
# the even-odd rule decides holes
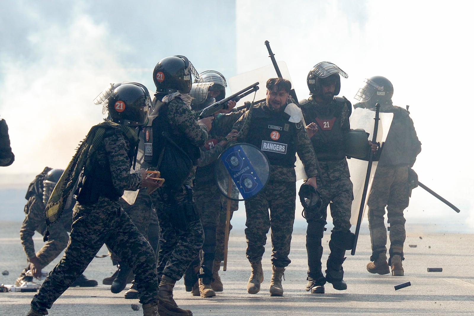
[[[300,102],[306,124],[314,122],[318,125],[318,132],[311,137],[311,143],[319,161],[346,158],[344,133],[341,129],[341,115],[342,110],[346,108],[346,102],[346,99],[334,97],[325,113],[318,110],[314,103],[308,100]]]

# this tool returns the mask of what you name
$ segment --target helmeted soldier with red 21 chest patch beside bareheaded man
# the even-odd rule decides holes
[[[308,222],[306,249],[308,252],[307,291],[324,293],[326,281],[334,289],[347,289],[342,263],[346,250],[352,248],[354,234],[350,232],[351,204],[354,199],[352,182],[344,151],[344,136],[349,131],[351,104],[346,98],[335,97],[341,89],[340,75],[347,78],[334,63],[321,62],[308,73],[311,96],[300,102],[301,110],[314,152],[319,162],[318,190],[322,203],[319,210],[305,209]],[[326,277],[321,271],[321,257],[327,208],[330,206],[334,228],[329,242],[330,254]]]

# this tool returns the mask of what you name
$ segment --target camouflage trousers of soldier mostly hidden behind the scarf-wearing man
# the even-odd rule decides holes
[[[160,235],[160,228],[158,226],[158,217],[156,217],[155,209],[151,203],[150,196],[146,193],[147,189],[140,189],[138,191],[137,199],[135,203],[129,205],[124,199],[119,199],[118,203],[123,210],[132,219],[133,224],[137,226],[137,229],[142,235],[145,236],[146,240],[151,244],[155,253],[158,252],[158,239]],[[109,249],[110,259],[112,264],[120,264],[120,258]]]

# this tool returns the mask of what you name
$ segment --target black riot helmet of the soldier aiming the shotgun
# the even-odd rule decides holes
[[[192,63],[182,55],[169,56],[160,60],[153,71],[153,81],[158,93],[189,93],[191,74],[199,78]]]

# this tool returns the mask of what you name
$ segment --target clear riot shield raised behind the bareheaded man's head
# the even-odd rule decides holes
[[[279,61],[277,62],[278,68],[280,68],[280,72],[282,73],[282,77],[286,80],[292,81],[290,77],[290,72],[288,71],[288,67],[285,62]],[[255,70],[251,70],[249,72],[244,72],[238,74],[234,77],[229,78],[229,88],[232,93],[236,93],[247,87],[248,85],[254,82],[260,82],[259,87],[260,89],[257,90],[255,94],[250,94],[242,99],[239,100],[239,104],[243,105],[245,101],[261,101],[266,99],[266,81],[270,78],[277,78],[277,74],[273,64],[264,66]],[[293,84],[293,83],[292,83]]]

